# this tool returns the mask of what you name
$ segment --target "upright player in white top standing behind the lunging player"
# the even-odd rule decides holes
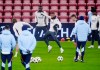
[[[47,15],[47,12],[43,11],[42,6],[39,6],[38,11],[35,12],[35,23],[36,23],[35,37],[40,35],[40,32],[42,30],[44,30],[44,32],[47,31],[48,18],[44,15],[41,15],[41,13]]]

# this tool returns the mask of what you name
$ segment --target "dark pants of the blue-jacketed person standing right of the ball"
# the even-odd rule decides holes
[[[85,45],[86,45],[86,41],[83,42],[77,41],[76,59],[78,58],[79,50],[81,49],[81,60],[84,60]]]

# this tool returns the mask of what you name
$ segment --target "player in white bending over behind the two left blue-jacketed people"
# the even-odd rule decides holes
[[[28,26],[30,26],[31,29],[33,29],[33,27],[29,23],[26,23],[26,22],[23,22],[23,21],[17,22],[16,19],[13,19],[12,22],[14,23],[14,25],[13,25],[13,31],[14,31],[15,36],[17,38],[22,33],[22,26],[23,25],[28,25]],[[15,52],[14,57],[17,57],[17,54],[18,54],[18,44],[16,45],[16,52]]]

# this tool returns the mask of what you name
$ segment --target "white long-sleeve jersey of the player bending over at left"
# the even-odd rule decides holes
[[[22,33],[22,27],[23,25],[28,25],[30,26],[30,28],[33,28],[29,23],[26,23],[26,22],[16,22],[14,25],[13,25],[13,30],[14,30],[14,33],[15,33],[15,36],[18,37],[21,33]]]

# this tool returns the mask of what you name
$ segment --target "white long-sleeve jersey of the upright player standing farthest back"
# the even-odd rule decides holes
[[[47,13],[45,11],[43,12],[35,12],[35,22],[37,22],[38,24],[36,26],[46,26],[48,25],[48,18],[44,15],[41,15],[41,13],[47,15]]]

